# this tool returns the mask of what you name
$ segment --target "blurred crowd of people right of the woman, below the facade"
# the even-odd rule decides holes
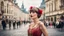
[[[59,29],[63,29],[64,28],[64,16],[62,15],[60,17],[60,19],[57,19],[57,21],[48,21],[48,20],[45,20],[44,21],[44,25],[46,27],[50,26],[54,26],[54,28],[59,28]]]

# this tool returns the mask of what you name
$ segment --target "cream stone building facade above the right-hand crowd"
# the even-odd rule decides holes
[[[45,0],[45,16],[50,21],[57,21],[61,15],[64,15],[64,8],[61,8],[64,3],[61,0]],[[64,6],[63,6],[64,7]]]

